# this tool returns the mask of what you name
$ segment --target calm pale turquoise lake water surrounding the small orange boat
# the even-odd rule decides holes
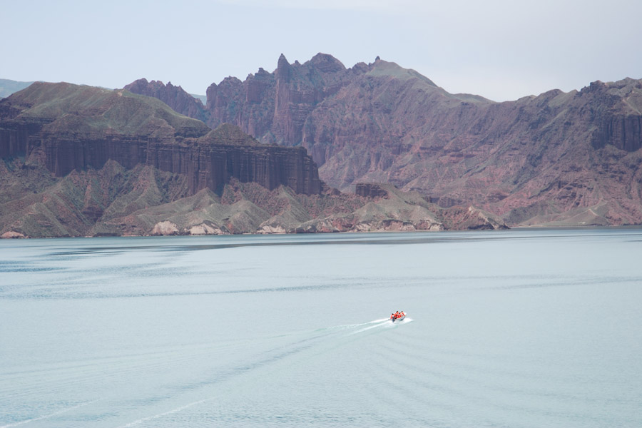
[[[639,229],[1,240],[0,427],[641,427],[641,255]]]

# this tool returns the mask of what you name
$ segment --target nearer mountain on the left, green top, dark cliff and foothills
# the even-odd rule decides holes
[[[505,227],[392,185],[341,193],[305,148],[125,89],[36,82],[4,98],[0,158],[4,238]]]

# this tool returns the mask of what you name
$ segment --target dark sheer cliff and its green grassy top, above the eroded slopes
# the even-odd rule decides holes
[[[0,103],[0,156],[42,161],[54,175],[150,165],[185,175],[190,193],[218,191],[230,178],[268,189],[320,193],[305,148],[265,146],[235,126],[214,131],[154,98],[67,83],[34,83]]]

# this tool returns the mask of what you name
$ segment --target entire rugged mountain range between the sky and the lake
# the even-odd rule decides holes
[[[642,223],[642,81],[496,103],[317,54],[213,83],[205,104],[171,83],[125,89],[37,83],[0,101],[0,234]]]

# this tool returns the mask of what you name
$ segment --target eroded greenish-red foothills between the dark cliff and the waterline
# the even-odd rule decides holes
[[[185,175],[108,161],[62,178],[20,158],[0,162],[0,236],[226,235],[459,228],[417,193],[387,188],[386,198],[327,191],[268,190],[235,178],[220,193],[191,195]],[[501,220],[497,220],[501,222]],[[470,225],[464,227],[469,228]],[[493,223],[488,224],[493,228]],[[474,227],[477,228],[477,227]]]

